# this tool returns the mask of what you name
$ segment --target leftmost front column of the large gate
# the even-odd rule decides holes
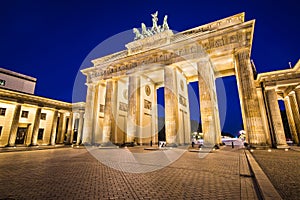
[[[82,143],[91,144],[94,124],[95,85],[90,83],[87,86]]]

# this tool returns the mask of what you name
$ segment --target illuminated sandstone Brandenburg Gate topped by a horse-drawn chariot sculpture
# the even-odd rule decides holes
[[[157,15],[152,14],[151,28],[142,23],[141,29],[133,29],[135,38],[126,50],[95,59],[92,67],[82,70],[87,85],[82,142],[157,143],[156,90],[164,87],[166,143],[189,144],[187,85],[198,81],[204,146],[218,145],[221,127],[215,80],[235,75],[247,142],[253,147],[270,145],[266,113],[261,109],[265,104],[259,99],[261,90],[250,61],[255,20],[245,22],[240,13],[175,34],[167,16],[158,25]],[[277,146],[286,146],[285,140]]]

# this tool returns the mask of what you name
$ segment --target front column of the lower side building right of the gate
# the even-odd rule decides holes
[[[267,90],[267,101],[271,117],[273,136],[275,139],[275,144],[277,148],[287,147],[286,138],[284,134],[284,128],[282,124],[277,94],[275,89]]]

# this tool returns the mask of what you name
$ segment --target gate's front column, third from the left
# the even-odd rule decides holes
[[[135,138],[138,138],[137,127],[140,106],[138,101],[138,79],[137,76],[129,76],[126,142],[132,142]]]

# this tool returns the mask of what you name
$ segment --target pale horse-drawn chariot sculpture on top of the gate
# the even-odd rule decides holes
[[[138,39],[143,39],[145,37],[149,37],[152,36],[154,34],[169,30],[169,25],[167,22],[168,19],[168,15],[165,15],[164,17],[164,22],[163,25],[157,25],[157,15],[158,15],[158,11],[156,11],[154,14],[152,15],[152,28],[151,29],[147,29],[146,25],[144,23],[141,24],[142,26],[142,33],[140,33],[139,29],[137,28],[133,28],[133,33],[135,33],[135,38],[134,40],[138,40]]]

